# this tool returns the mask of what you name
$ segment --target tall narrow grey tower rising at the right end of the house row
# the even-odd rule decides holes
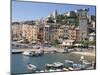
[[[79,15],[79,36],[80,41],[84,41],[88,38],[88,9],[80,9],[78,10]]]

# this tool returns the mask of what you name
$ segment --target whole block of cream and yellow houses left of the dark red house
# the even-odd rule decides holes
[[[13,40],[27,40],[28,42],[37,40],[38,27],[35,25],[19,24],[12,26]]]

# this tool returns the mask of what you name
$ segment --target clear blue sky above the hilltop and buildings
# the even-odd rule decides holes
[[[51,4],[12,1],[12,21],[36,20],[47,17],[55,9],[58,13],[89,8],[89,14],[95,15],[95,7],[88,5]]]

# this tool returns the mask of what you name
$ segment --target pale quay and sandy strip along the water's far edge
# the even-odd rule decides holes
[[[56,52],[64,52],[64,49],[61,48],[55,48],[55,47],[50,47],[50,48],[40,48],[40,49],[12,49],[12,53],[20,53],[20,52],[24,52],[24,51],[41,51],[43,50],[44,53],[53,53],[54,51]],[[78,54],[78,55],[84,55],[84,56],[95,56],[95,52],[89,52],[89,51],[73,51],[71,52],[72,54]]]

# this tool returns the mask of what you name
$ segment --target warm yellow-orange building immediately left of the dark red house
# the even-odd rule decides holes
[[[23,32],[23,37],[27,39],[29,42],[37,40],[37,34],[38,34],[37,26],[23,24],[22,32]]]

